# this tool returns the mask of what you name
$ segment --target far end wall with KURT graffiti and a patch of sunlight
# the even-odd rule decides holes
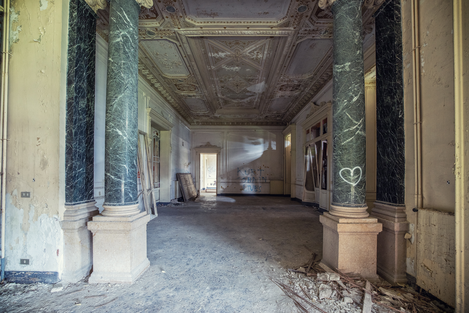
[[[218,193],[270,193],[283,180],[284,126],[192,126],[192,147],[222,147]],[[196,160],[192,153],[192,160]],[[197,177],[194,177],[198,180]],[[198,188],[198,186],[196,186]]]

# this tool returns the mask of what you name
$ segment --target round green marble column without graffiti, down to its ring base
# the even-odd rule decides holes
[[[138,14],[134,0],[111,0],[106,88],[105,201],[103,215],[129,215],[132,208],[110,214],[109,206],[134,206],[137,198]],[[116,207],[117,209],[117,207]]]

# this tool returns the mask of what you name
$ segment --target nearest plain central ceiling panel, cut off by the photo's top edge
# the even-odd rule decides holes
[[[276,21],[287,15],[289,0],[183,0],[187,15],[203,21]]]

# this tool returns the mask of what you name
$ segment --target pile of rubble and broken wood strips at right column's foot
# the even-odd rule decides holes
[[[441,313],[454,309],[424,297],[408,285],[371,284],[358,275],[339,270],[325,272],[314,262],[309,272],[304,267],[288,269],[280,280],[271,279],[303,313]],[[311,264],[311,262],[309,262]]]

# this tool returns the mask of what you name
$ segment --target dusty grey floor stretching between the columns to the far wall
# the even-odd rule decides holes
[[[84,278],[54,293],[48,284],[6,284],[0,312],[297,312],[270,278],[306,263],[303,245],[322,256],[315,209],[290,198],[204,193],[158,209],[147,226],[151,266],[134,284]],[[106,297],[85,298],[96,295]]]

